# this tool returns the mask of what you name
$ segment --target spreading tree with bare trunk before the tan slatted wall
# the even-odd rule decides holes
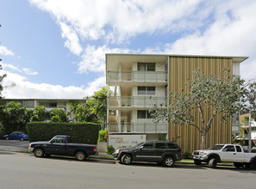
[[[151,113],[154,122],[170,121],[174,125],[191,125],[200,132],[201,149],[205,147],[207,133],[216,115],[221,115],[222,121],[227,122],[234,113],[242,107],[240,98],[244,91],[240,88],[244,81],[228,76],[229,70],[224,70],[225,76],[219,78],[205,76],[200,70],[193,73],[192,79],[186,83],[186,88],[177,93],[170,93],[170,105],[165,108],[155,106]],[[205,110],[208,115],[205,115]],[[195,112],[199,113],[201,126],[195,121]]]

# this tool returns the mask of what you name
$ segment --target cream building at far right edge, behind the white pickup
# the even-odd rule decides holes
[[[254,146],[256,146],[256,121],[251,121],[251,139]],[[240,131],[241,137],[245,145],[249,143],[249,113],[240,115]]]

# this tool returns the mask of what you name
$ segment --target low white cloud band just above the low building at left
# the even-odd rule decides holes
[[[29,82],[27,77],[0,70],[0,75],[7,74],[3,80],[3,86],[15,83],[14,88],[3,90],[6,98],[41,98],[41,99],[82,99],[84,96],[91,96],[95,91],[103,87],[106,83],[105,77],[100,77],[96,81],[89,83],[88,88],[60,85],[50,85],[47,83]]]

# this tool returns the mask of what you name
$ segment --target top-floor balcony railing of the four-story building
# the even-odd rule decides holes
[[[109,82],[167,82],[165,71],[108,71]]]

